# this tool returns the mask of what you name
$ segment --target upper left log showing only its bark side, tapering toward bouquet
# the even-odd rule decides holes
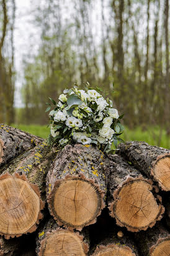
[[[43,139],[38,136],[8,125],[0,125],[0,166],[42,142]]]

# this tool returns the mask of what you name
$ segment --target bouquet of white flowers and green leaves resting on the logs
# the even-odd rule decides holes
[[[58,103],[50,98],[49,113],[51,132],[48,143],[61,147],[66,144],[95,144],[103,151],[110,151],[111,146],[117,146],[122,141],[119,135],[124,128],[120,123],[117,109],[112,108],[112,100],[100,94],[101,89],[89,87],[79,90],[77,86],[65,89],[58,98]]]

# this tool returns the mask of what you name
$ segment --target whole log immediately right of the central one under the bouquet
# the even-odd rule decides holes
[[[156,187],[121,156],[109,155],[109,161],[110,216],[115,217],[117,225],[132,232],[153,227],[164,212],[161,197],[154,192]]]

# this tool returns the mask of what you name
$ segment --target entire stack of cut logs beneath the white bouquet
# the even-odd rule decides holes
[[[170,151],[50,148],[0,126],[0,255],[169,255]]]

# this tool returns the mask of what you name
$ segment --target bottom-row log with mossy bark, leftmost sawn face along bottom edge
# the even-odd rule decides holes
[[[38,234],[36,252],[39,256],[85,256],[88,250],[89,241],[83,235],[61,229],[54,219],[48,220]]]

